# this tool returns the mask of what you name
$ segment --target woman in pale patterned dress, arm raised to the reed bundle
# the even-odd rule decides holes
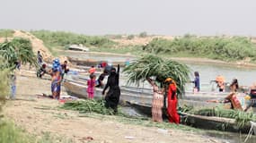
[[[152,120],[154,122],[163,122],[163,90],[159,89],[152,79],[146,78],[146,80],[153,87],[154,92],[151,108]]]

